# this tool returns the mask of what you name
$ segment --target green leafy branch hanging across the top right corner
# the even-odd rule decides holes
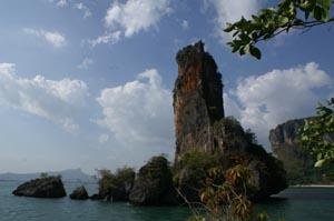
[[[233,41],[227,44],[232,52],[261,59],[261,51],[255,47],[257,42],[292,29],[307,31],[312,27],[333,22],[333,6],[332,0],[282,0],[276,8],[263,9],[250,20],[243,17],[235,23],[227,23],[224,31],[233,33]]]

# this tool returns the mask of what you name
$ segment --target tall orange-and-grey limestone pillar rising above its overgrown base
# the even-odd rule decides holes
[[[178,77],[174,89],[176,161],[189,147],[214,149],[210,127],[224,118],[222,74],[202,41],[177,56]]]

